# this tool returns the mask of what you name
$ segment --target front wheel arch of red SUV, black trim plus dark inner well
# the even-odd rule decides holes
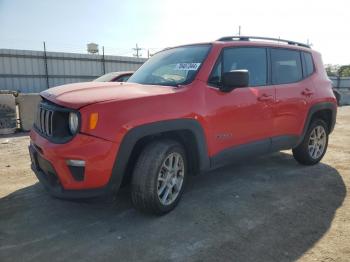
[[[162,138],[174,139],[184,146],[192,173],[209,168],[205,134],[198,121],[176,119],[145,124],[129,130],[120,144],[109,181],[113,190],[131,177],[133,166],[144,146]]]

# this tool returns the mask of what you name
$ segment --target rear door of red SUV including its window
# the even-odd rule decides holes
[[[270,52],[271,80],[276,88],[273,144],[275,147],[289,148],[302,131],[314,86],[310,77],[303,76],[307,75],[304,52],[284,48],[271,48]],[[312,58],[311,65],[310,57],[306,59],[309,61],[308,74],[311,75]],[[304,74],[302,61],[305,64]]]

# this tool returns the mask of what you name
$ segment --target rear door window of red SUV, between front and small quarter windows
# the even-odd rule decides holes
[[[303,78],[299,51],[271,49],[273,84],[298,82]]]

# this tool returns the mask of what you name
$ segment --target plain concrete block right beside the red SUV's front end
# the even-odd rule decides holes
[[[19,109],[21,129],[29,131],[35,121],[38,104],[41,101],[39,94],[19,94],[16,102]]]

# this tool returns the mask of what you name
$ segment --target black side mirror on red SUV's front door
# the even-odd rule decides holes
[[[247,87],[249,85],[248,70],[232,70],[222,76],[222,92],[230,92],[235,88]]]

